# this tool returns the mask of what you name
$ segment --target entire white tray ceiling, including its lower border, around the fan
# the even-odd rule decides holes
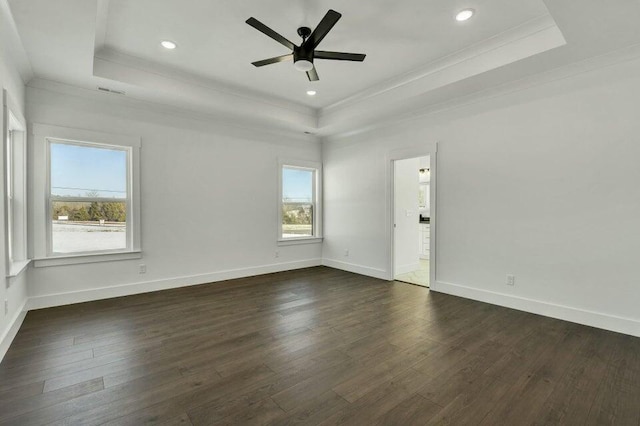
[[[131,99],[320,134],[375,120],[385,108],[396,114],[468,94],[474,81],[495,86],[640,42],[632,19],[638,0],[619,0],[615,9],[600,0],[8,2],[31,85],[108,87]],[[476,15],[457,22],[464,8]],[[329,9],[343,16],[320,49],[366,53],[364,62],[317,60],[317,82],[291,62],[251,65],[288,52],[247,18],[299,43],[296,29],[314,28]],[[162,48],[166,39],[178,48]]]

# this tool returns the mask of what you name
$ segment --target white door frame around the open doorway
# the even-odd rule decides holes
[[[438,163],[438,143],[425,143],[420,146],[410,148],[395,149],[387,153],[387,261],[388,280],[393,281],[395,277],[395,161],[406,160],[408,158],[429,156],[429,168],[431,178],[429,182],[430,195],[430,240],[429,240],[429,288],[435,290],[436,287],[436,247],[437,247],[437,163]]]

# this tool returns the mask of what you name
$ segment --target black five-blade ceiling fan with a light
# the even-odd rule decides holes
[[[315,50],[320,44],[322,39],[327,35],[331,28],[338,22],[342,15],[335,10],[329,9],[324,18],[320,21],[318,26],[313,32],[311,28],[300,27],[298,28],[298,35],[302,37],[302,43],[300,46],[296,46],[271,28],[267,27],[256,18],[247,19],[247,24],[251,25],[256,30],[271,37],[283,46],[291,49],[292,53],[282,56],[276,56],[274,58],[264,59],[262,61],[252,62],[256,67],[262,67],[269,64],[275,64],[278,62],[290,61],[293,59],[293,65],[298,71],[307,73],[309,81],[317,81],[318,72],[313,65],[314,59],[331,59],[334,61],[364,61],[366,55],[362,53],[343,53],[343,52],[326,52],[323,50]]]

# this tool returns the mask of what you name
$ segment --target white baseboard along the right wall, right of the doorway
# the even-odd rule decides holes
[[[519,311],[531,312],[546,317],[557,318],[590,327],[629,334],[640,337],[640,321],[631,318],[623,318],[600,312],[587,311],[569,306],[556,305],[540,300],[527,299],[510,294],[496,293],[478,288],[466,287],[459,284],[437,281],[431,286],[431,290],[466,299],[478,300],[493,305],[505,306]]]

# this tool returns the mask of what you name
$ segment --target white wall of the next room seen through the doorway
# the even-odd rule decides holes
[[[396,160],[394,179],[394,274],[406,274],[420,268],[418,246],[418,170],[420,160]]]

